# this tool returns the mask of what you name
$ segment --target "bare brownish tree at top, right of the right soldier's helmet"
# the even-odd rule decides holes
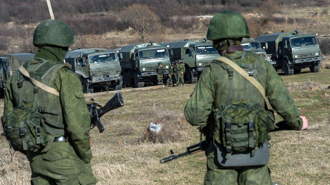
[[[277,1],[263,1],[262,4],[256,9],[256,16],[251,17],[252,20],[249,25],[252,35],[259,36],[263,34],[264,28],[267,23],[278,13],[280,6]]]

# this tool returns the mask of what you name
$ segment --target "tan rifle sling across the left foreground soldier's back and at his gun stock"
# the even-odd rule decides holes
[[[52,87],[49,87],[49,86],[47,86],[47,85],[39,82],[38,80],[36,80],[34,78],[31,78],[29,72],[23,66],[20,66],[18,68],[18,70],[21,72],[22,75],[24,75],[27,78],[29,78],[31,80],[31,83],[33,85],[37,86],[38,88],[40,88],[40,89],[42,89],[42,90],[44,90],[44,91],[46,91],[48,93],[54,94],[56,96],[60,96],[60,93],[56,89],[54,89]],[[94,104],[96,106],[103,107],[102,104],[99,104],[98,102],[91,101],[91,100],[88,100],[88,99],[85,99],[85,102],[86,102],[86,104]]]

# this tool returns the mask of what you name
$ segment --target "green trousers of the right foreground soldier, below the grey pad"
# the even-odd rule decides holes
[[[268,165],[249,167],[223,167],[216,159],[215,146],[210,144],[205,151],[207,156],[207,173],[205,185],[271,185]]]

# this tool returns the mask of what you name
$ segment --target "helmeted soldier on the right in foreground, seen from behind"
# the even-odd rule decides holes
[[[190,124],[206,135],[206,185],[272,184],[267,164],[274,114],[266,97],[293,130],[308,128],[274,67],[243,51],[243,37],[250,35],[241,14],[215,14],[207,38],[223,57],[205,67],[184,109]]]

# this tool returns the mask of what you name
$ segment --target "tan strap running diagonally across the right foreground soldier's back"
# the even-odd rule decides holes
[[[227,59],[226,57],[218,57],[215,60],[219,60],[231,66],[235,71],[237,71],[240,75],[242,75],[245,79],[247,79],[255,88],[257,88],[257,90],[262,94],[262,96],[266,100],[266,91],[264,87],[262,87],[262,85],[255,78],[253,78],[253,76],[250,76],[248,72],[245,71],[242,67],[238,66],[235,62]]]

